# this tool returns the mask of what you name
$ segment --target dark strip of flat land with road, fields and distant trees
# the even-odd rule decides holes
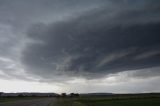
[[[160,93],[143,94],[65,94],[18,93],[1,96],[0,106],[159,106]],[[25,95],[26,94],[26,95]],[[29,95],[30,94],[30,95]]]

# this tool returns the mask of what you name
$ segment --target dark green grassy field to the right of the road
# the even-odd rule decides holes
[[[52,106],[160,106],[160,97],[116,95],[59,98]]]

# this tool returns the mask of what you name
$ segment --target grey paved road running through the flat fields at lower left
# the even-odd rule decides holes
[[[21,100],[8,103],[0,103],[0,106],[49,106],[54,98]]]

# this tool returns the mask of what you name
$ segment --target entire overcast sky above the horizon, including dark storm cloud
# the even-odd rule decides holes
[[[160,1],[0,0],[1,92],[160,92]]]

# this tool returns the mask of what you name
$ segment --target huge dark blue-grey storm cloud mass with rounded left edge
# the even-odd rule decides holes
[[[61,22],[30,27],[31,42],[22,56],[26,70],[45,78],[95,78],[158,67],[159,2],[110,3]]]

